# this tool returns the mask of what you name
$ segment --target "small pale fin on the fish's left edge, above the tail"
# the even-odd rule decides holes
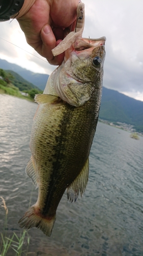
[[[35,163],[33,157],[31,157],[30,161],[27,163],[27,166],[25,168],[26,174],[32,179],[34,185],[36,188],[39,186],[38,182],[38,176],[35,169]]]

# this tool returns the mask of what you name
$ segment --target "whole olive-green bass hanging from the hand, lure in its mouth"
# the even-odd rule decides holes
[[[65,37],[64,44],[54,52],[65,51],[62,65],[49,76],[43,94],[35,96],[39,105],[26,173],[38,187],[38,199],[19,225],[25,229],[37,227],[49,237],[65,190],[68,200],[76,202],[87,186],[101,103],[105,37],[82,38],[84,20],[78,17],[83,18],[83,8],[80,3],[77,31]]]

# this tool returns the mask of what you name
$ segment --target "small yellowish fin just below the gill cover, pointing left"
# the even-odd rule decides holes
[[[36,94],[34,99],[38,104],[44,104],[57,101],[59,97],[50,94]]]

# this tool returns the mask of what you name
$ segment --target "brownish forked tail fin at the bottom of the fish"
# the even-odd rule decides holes
[[[31,206],[19,220],[20,228],[30,229],[32,227],[40,228],[46,236],[50,237],[56,217],[42,218],[36,205]]]

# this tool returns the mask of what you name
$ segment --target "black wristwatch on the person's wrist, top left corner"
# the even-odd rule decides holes
[[[0,0],[0,22],[5,22],[18,13],[23,4],[24,0]]]

